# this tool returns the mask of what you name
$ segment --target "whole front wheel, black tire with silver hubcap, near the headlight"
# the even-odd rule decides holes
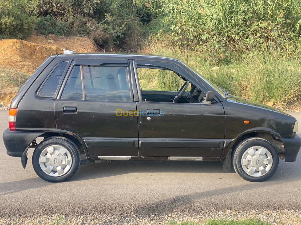
[[[247,181],[261,182],[269,179],[276,172],[278,163],[278,152],[263,138],[243,140],[234,151],[234,170]]]

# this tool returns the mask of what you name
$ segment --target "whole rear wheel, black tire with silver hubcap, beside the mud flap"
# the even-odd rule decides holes
[[[48,182],[64,182],[72,177],[80,164],[76,145],[65,137],[44,139],[33,152],[33,169]]]

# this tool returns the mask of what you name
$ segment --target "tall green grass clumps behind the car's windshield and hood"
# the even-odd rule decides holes
[[[202,55],[179,45],[151,42],[148,48],[154,54],[181,59],[230,94],[273,104],[281,110],[287,109],[287,103],[299,101],[301,95],[299,58],[277,49],[264,49],[262,53],[249,54],[244,61],[212,68],[206,65]],[[169,81],[169,76],[153,79],[156,79],[158,85],[165,85],[162,80],[172,84],[175,82]],[[175,83],[172,88],[177,89],[179,86],[179,83]]]

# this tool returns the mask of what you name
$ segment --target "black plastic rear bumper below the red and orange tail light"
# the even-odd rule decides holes
[[[7,128],[2,135],[7,155],[22,157],[30,143],[42,134],[44,132],[10,131]]]

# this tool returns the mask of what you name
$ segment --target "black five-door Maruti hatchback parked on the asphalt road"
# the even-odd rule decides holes
[[[156,78],[145,81],[145,74],[183,85],[153,90]],[[279,158],[296,160],[297,131],[293,116],[229,95],[181,60],[66,51],[47,58],[20,88],[3,140],[24,168],[34,148],[33,168],[49,182],[102,160],[220,161],[227,172],[232,165],[243,179],[264,181]],[[37,137],[44,140],[37,144]]]

